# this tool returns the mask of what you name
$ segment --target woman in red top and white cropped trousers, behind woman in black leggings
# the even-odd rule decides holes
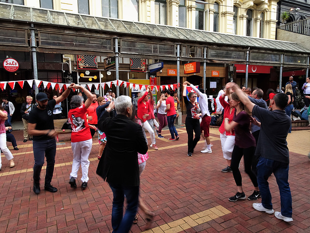
[[[229,103],[225,101],[226,95],[228,95],[229,97]],[[238,104],[232,101],[232,98],[228,90],[224,90],[224,94],[222,94],[219,97],[219,102],[224,108],[223,119],[228,118],[230,122],[232,122],[233,114],[235,111],[234,107]],[[218,131],[221,133],[220,139],[221,139],[223,157],[227,161],[227,167],[222,169],[222,172],[228,172],[228,171],[232,172],[233,170],[231,169],[231,163],[232,163],[232,153],[233,153],[233,146],[234,146],[234,140],[235,140],[234,130],[233,129],[230,131],[225,130],[224,121],[223,121]]]

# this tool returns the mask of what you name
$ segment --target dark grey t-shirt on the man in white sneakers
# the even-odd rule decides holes
[[[255,155],[267,159],[289,163],[289,149],[286,137],[291,126],[291,119],[285,111],[263,109],[254,106],[252,113],[261,120],[261,132]]]

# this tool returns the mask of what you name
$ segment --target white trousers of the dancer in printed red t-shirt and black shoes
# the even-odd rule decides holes
[[[93,140],[85,140],[78,142],[71,142],[71,147],[73,151],[73,162],[72,171],[70,173],[70,178],[78,178],[78,168],[81,165],[82,169],[82,182],[88,182],[88,168],[90,161],[88,160],[89,154],[91,153],[93,145]]]

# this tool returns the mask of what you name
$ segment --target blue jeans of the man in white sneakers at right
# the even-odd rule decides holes
[[[272,209],[271,193],[268,178],[274,173],[280,191],[281,214],[292,217],[292,194],[289,178],[289,164],[260,157],[257,164],[257,181],[262,195],[262,204],[266,209]]]

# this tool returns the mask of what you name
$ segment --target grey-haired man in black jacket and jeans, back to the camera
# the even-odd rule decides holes
[[[109,117],[115,104],[117,115]],[[138,152],[146,154],[148,146],[142,127],[129,119],[132,101],[129,96],[120,96],[109,104],[98,122],[98,129],[105,132],[107,146],[99,161],[97,174],[106,180],[113,192],[112,228],[114,233],[127,233],[136,216],[139,202]],[[127,209],[123,217],[124,195]]]

